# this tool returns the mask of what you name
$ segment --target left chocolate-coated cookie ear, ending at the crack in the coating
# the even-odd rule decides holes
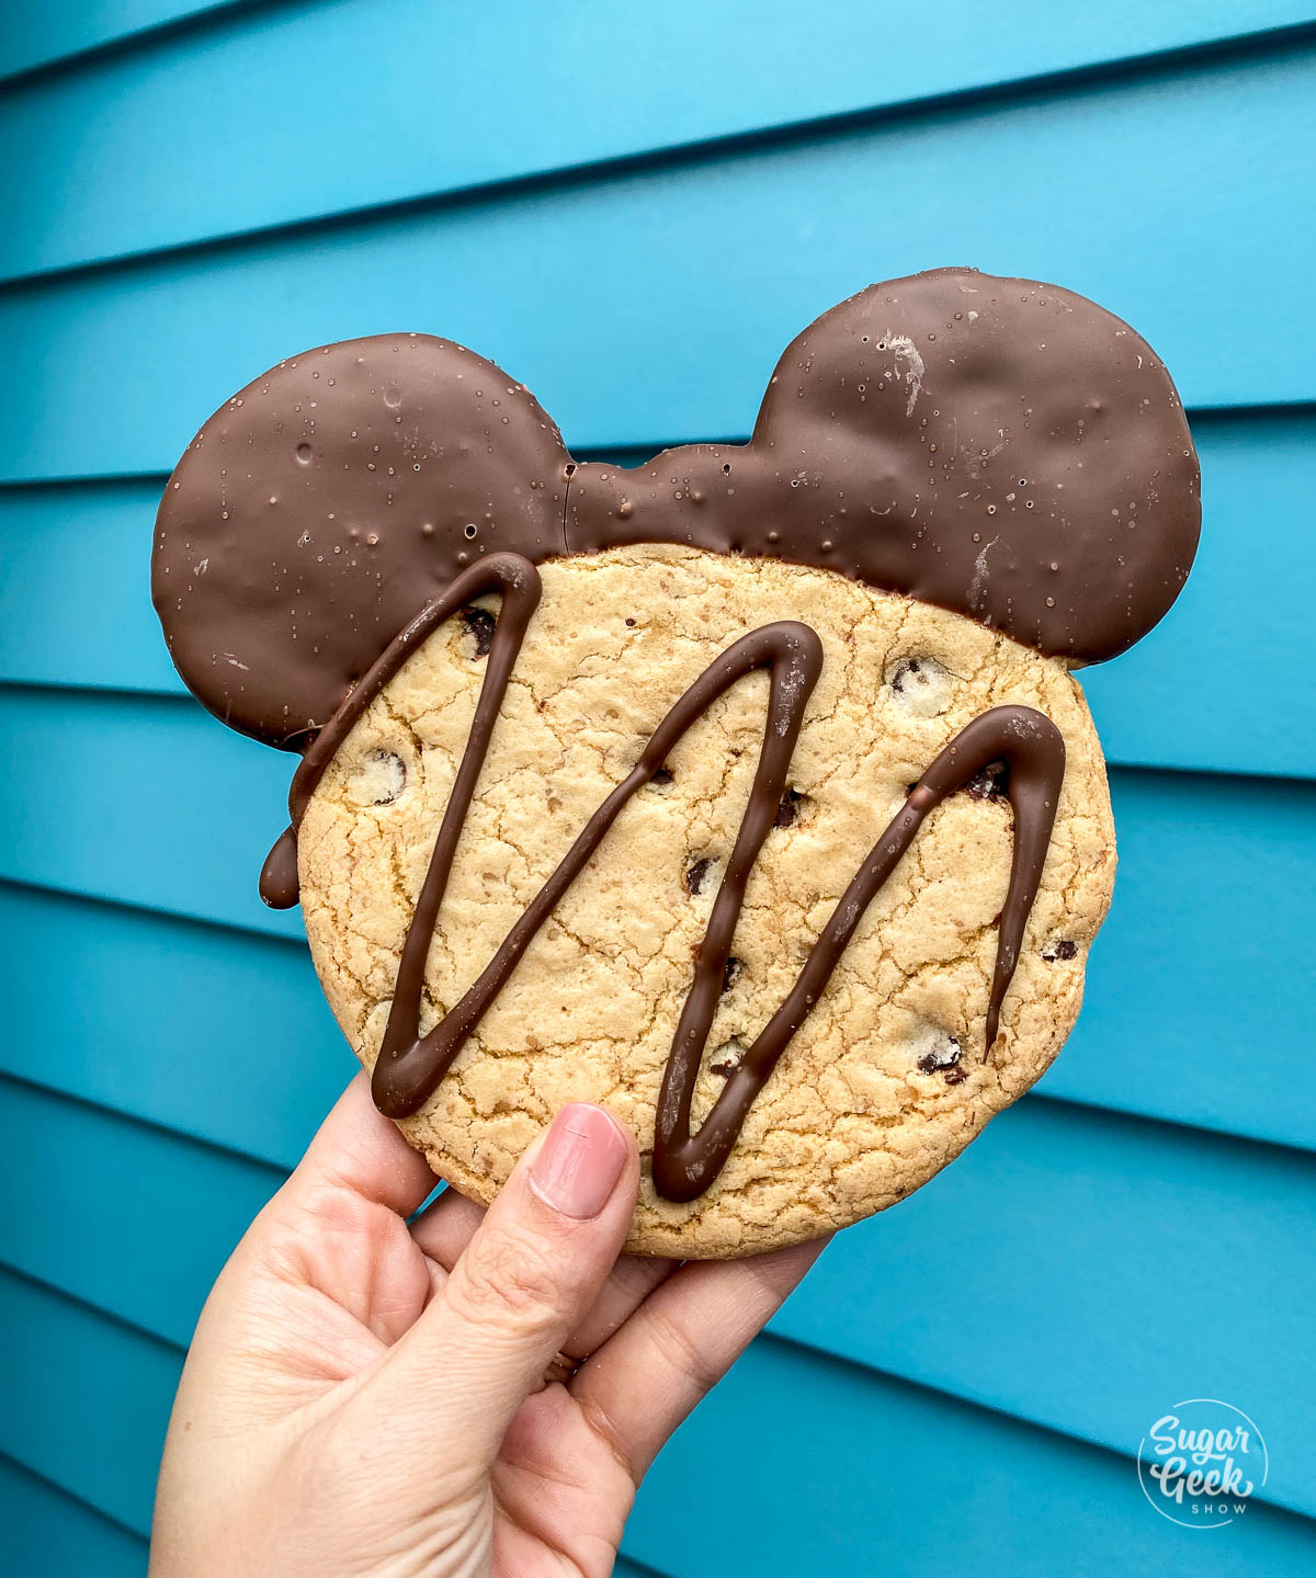
[[[535,398],[448,341],[281,361],[164,491],[151,595],[178,672],[232,727],[305,746],[464,565],[565,551],[570,464]]]

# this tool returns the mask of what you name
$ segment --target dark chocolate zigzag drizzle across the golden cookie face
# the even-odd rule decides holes
[[[989,1056],[1000,1023],[1000,1005],[1018,964],[1024,928],[1041,881],[1065,772],[1065,745],[1056,724],[1030,707],[1016,705],[994,707],[975,718],[923,773],[841,896],[786,1000],[731,1071],[699,1130],[691,1133],[694,1086],[745,903],[745,888],[781,803],[805,707],[822,669],[822,644],[817,634],[808,625],[792,620],[764,625],[742,636],[708,664],[653,731],[631,772],[589,819],[483,974],[434,1029],[420,1035],[424,963],[434,925],[508,680],[540,600],[538,571],[518,554],[489,555],[459,574],[445,593],[429,603],[385,650],[330,724],[319,732],[293,776],[289,794],[293,825],[275,844],[262,871],[260,892],[267,903],[284,907],[297,901],[295,828],[316,783],[352,726],[415,652],[418,641],[470,598],[492,590],[499,590],[503,601],[494,625],[488,669],[429,869],[407,929],[393,1007],[374,1068],[372,1092],[382,1112],[394,1119],[409,1117],[429,1100],[525,948],[600,847],[626,802],[653,778],[672,746],[718,696],[761,667],[770,671],[772,683],[759,764],[726,874],[713,901],[694,980],[658,1097],[653,1136],[653,1182],[658,1193],[672,1201],[691,1201],[713,1182],[735,1146],[750,1106],[822,996],[865,911],[914,843],[923,819],[989,762],[1004,761],[1008,768],[1007,789],[1015,810],[1016,833],[986,1016],[985,1051]]]

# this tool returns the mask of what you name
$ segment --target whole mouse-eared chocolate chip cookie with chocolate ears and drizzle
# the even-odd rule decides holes
[[[301,756],[262,893],[380,1109],[489,1201],[600,1101],[630,1248],[734,1256],[903,1199],[1059,1051],[1116,866],[1071,669],[1166,612],[1198,495],[1146,341],[945,268],[637,470],[426,335],[279,363],[178,462],[153,592]]]

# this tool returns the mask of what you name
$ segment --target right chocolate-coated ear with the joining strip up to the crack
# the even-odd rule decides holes
[[[1098,663],[1171,606],[1199,525],[1188,424],[1144,339],[1071,290],[939,268],[811,323],[748,445],[581,466],[566,530],[576,552],[821,565]]]

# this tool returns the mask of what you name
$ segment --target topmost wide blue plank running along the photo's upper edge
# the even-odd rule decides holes
[[[115,9],[145,25],[180,8]],[[981,27],[974,0],[944,0],[928,49],[918,11],[852,0],[667,0],[631,9],[620,28],[615,6],[600,3],[243,11],[0,98],[0,144],[25,197],[6,204],[0,278],[981,92],[1311,16],[1308,0],[1108,0],[1059,13],[1002,0]],[[50,22],[25,28],[43,30],[57,33]],[[66,24],[65,46],[96,32],[107,27]],[[656,68],[674,46],[680,68]],[[21,38],[9,55],[38,49],[39,36]],[[368,104],[368,118],[336,112],[347,101]]]

